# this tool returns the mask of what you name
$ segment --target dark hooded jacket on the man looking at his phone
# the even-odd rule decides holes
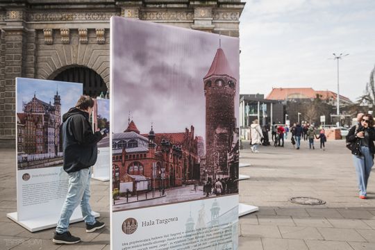
[[[77,172],[97,162],[97,142],[103,136],[99,131],[92,132],[88,113],[71,108],[63,115],[61,134],[65,172]]]

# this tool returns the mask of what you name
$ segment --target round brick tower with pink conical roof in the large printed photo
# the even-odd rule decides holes
[[[217,49],[203,78],[206,96],[206,169],[213,178],[228,177],[228,151],[235,130],[235,87],[224,51]]]

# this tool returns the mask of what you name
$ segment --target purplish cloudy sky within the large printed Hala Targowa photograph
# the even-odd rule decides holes
[[[130,111],[141,133],[149,133],[151,122],[156,133],[185,132],[193,125],[195,135],[205,138],[203,77],[219,48],[219,35],[122,17],[114,20],[113,131],[126,129]],[[222,49],[238,79],[238,38],[222,36]]]

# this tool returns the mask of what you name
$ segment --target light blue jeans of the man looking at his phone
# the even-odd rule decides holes
[[[56,233],[67,232],[70,217],[79,203],[81,203],[82,216],[83,219],[85,219],[85,222],[90,225],[95,223],[95,217],[92,215],[89,204],[90,178],[90,168],[69,173],[67,198],[65,199],[63,209],[61,210],[60,219],[56,226]]]

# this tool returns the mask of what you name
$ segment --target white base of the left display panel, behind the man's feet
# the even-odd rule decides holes
[[[94,212],[94,211],[92,212],[92,215],[94,215],[94,217],[100,216],[99,213]],[[36,218],[33,218],[33,219],[26,219],[26,220],[23,220],[23,221],[19,222],[18,219],[17,219],[18,218],[17,212],[8,213],[6,215],[6,217],[11,219],[13,222],[19,224],[20,226],[23,226],[24,228],[26,228],[28,231],[31,231],[31,232],[37,232],[37,231],[41,231],[41,230],[44,230],[44,229],[56,227],[59,216],[60,215],[57,215],[57,214],[44,215],[42,217],[36,217]],[[81,222],[81,221],[83,221],[81,209],[74,210],[74,213],[73,213],[72,217],[70,217],[70,223]]]

